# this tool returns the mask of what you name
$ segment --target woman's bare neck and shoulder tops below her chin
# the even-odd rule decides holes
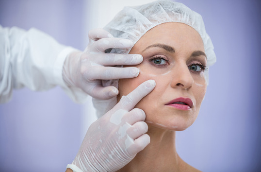
[[[185,163],[177,154],[175,131],[148,124],[150,143],[118,172],[199,172]]]

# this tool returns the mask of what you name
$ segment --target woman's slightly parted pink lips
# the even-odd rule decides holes
[[[193,102],[189,98],[179,97],[169,103],[166,103],[165,105],[172,106],[180,110],[189,110],[193,107]]]

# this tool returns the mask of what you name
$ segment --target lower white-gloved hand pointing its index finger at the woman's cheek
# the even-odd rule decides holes
[[[146,115],[133,107],[154,87],[154,80],[142,83],[92,123],[78,154],[67,168],[74,172],[115,172],[142,151],[150,142],[145,134]]]

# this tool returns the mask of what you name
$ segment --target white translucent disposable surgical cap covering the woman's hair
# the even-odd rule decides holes
[[[210,36],[206,33],[202,17],[179,2],[157,0],[141,6],[124,7],[104,29],[114,37],[130,39],[136,43],[147,31],[167,22],[184,23],[194,28],[203,40],[207,55],[207,67],[212,66],[216,62],[214,47]],[[125,50],[112,49],[110,53],[128,54],[130,50],[131,48]],[[208,84],[208,70],[205,71],[205,78]],[[103,82],[103,86],[114,85],[117,87],[117,82],[118,80],[110,80]],[[111,103],[110,107],[105,108],[107,110],[100,111],[101,114],[98,112],[98,117],[112,107]]]

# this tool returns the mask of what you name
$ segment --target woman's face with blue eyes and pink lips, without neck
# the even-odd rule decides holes
[[[135,107],[146,113],[149,126],[184,130],[195,120],[206,92],[204,69],[207,58],[200,35],[182,23],[164,23],[144,34],[131,54],[141,54],[135,67],[140,74],[119,80],[118,101],[144,81],[153,79],[156,87]]]

